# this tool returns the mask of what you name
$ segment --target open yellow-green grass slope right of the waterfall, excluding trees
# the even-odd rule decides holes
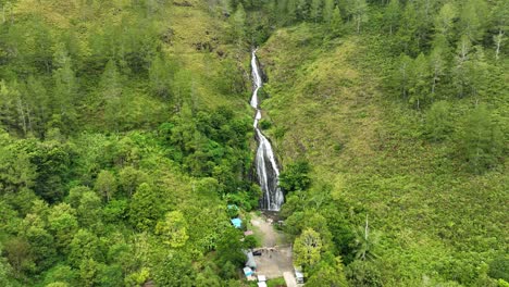
[[[276,30],[259,52],[268,133],[283,165],[307,159],[313,182],[332,185],[332,199],[363,210],[353,225],[369,215],[381,232],[376,264],[386,286],[476,285],[483,264],[507,252],[509,162],[475,175],[454,139],[426,140],[425,111],[384,88],[392,61],[384,45],[364,35],[323,40],[310,24]],[[507,127],[507,97],[481,101]],[[459,126],[474,99],[450,102]]]

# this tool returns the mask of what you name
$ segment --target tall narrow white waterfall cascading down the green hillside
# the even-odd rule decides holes
[[[257,50],[253,50],[251,55],[252,84],[254,86],[254,90],[252,92],[250,102],[251,107],[257,110],[253,123],[258,140],[258,150],[254,165],[257,169],[258,180],[263,194],[262,209],[280,211],[284,201],[283,190],[280,188],[280,170],[277,167],[271,142],[262,134],[260,128],[258,128],[258,123],[262,117],[261,110],[259,109],[260,103],[258,100],[258,90],[261,88],[263,83],[260,76],[260,70],[258,68],[256,52]]]

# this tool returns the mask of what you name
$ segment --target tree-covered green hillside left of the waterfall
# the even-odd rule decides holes
[[[226,205],[259,191],[224,5],[0,5],[0,285],[238,285]]]

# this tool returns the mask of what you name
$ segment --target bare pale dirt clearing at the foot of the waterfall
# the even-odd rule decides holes
[[[285,235],[277,232],[263,215],[251,214],[251,224],[258,229],[261,236],[262,247],[274,248],[264,250],[260,257],[254,257],[257,262],[257,273],[265,275],[268,278],[283,277],[284,273],[293,274],[291,247],[287,242]]]

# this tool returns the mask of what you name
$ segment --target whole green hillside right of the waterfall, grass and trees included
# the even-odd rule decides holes
[[[286,230],[300,238],[312,228],[322,241],[332,240],[322,260],[330,251],[340,254],[352,286],[496,286],[508,271],[501,267],[508,262],[507,55],[497,58],[488,35],[475,40],[469,47],[483,54],[468,51],[477,62],[468,72],[472,82],[461,84],[461,34],[451,37],[432,91],[437,48],[429,39],[439,38],[433,26],[420,27],[429,42],[400,57],[411,25],[405,13],[419,13],[413,9],[423,1],[398,7],[393,34],[387,13],[397,1],[367,5],[361,33],[350,18],[353,2],[339,2],[340,24],[327,24],[328,1],[319,5],[319,24],[307,18],[314,1],[311,12],[297,10],[294,17],[289,3],[286,27],[259,52],[269,80],[263,109],[272,124],[265,133],[286,169]],[[438,2],[431,7],[439,12]],[[470,4],[452,3],[455,11]],[[308,182],[307,162],[309,188],[299,186]],[[308,271],[313,280],[326,277],[321,266]]]

